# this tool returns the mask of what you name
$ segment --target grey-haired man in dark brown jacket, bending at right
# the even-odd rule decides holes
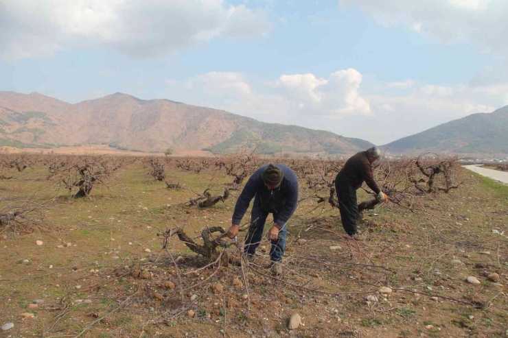
[[[381,153],[378,147],[371,147],[365,152],[355,154],[346,161],[335,178],[335,190],[338,198],[338,209],[344,230],[353,239],[361,240],[356,229],[358,218],[358,202],[356,191],[362,183],[367,183],[370,189],[376,193],[380,202],[386,202],[388,197],[379,189],[372,173],[372,163],[378,160]]]

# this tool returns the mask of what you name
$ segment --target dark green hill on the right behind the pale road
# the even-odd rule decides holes
[[[472,114],[382,146],[392,154],[508,154],[508,106]]]

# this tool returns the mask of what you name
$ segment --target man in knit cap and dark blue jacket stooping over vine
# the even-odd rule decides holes
[[[298,179],[294,171],[285,165],[264,165],[257,169],[244,186],[244,190],[236,201],[235,212],[231,228],[228,230],[229,237],[238,234],[238,228],[242,222],[251,200],[254,204],[251,213],[251,226],[245,239],[244,252],[248,258],[255,254],[256,248],[262,239],[264,224],[269,213],[273,213],[273,226],[268,232],[268,239],[272,245],[270,259],[273,262],[274,274],[281,274],[281,266],[278,264],[284,256],[286,244],[286,224],[295,213],[298,204]]]

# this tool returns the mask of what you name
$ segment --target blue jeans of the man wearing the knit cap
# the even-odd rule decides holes
[[[259,246],[259,242],[263,237],[266,217],[268,217],[268,212],[261,210],[261,208],[256,206],[256,203],[254,202],[251,213],[251,220],[253,222],[251,226],[249,226],[249,233],[245,239],[244,252],[246,254],[255,254],[256,248]],[[277,219],[278,214],[274,213],[273,221],[279,224]],[[272,245],[270,247],[270,259],[274,262],[282,261],[282,256],[284,256],[284,246],[286,245],[286,224],[279,224],[279,226],[282,226],[281,230],[279,230],[279,237],[275,241],[271,241]]]

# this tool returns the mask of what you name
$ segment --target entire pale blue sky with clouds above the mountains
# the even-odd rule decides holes
[[[0,0],[0,90],[122,92],[384,144],[508,104],[500,0]]]

